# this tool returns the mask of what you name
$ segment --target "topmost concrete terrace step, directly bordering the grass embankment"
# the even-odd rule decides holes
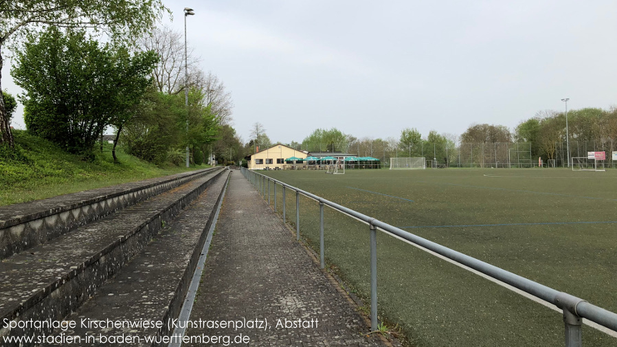
[[[206,170],[124,183],[0,207],[0,259],[46,243],[102,216],[122,210],[192,179]]]

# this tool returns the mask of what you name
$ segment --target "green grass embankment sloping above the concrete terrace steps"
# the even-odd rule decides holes
[[[0,205],[209,167],[158,167],[127,155],[122,148],[116,150],[119,163],[114,163],[111,144],[104,144],[102,152],[97,148],[93,161],[84,161],[26,131],[14,130],[13,135],[19,153],[12,159],[0,153]]]

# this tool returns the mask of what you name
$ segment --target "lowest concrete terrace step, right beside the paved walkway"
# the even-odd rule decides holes
[[[75,322],[160,321],[165,323],[162,328],[101,329],[77,326],[65,333],[82,337],[82,342],[85,342],[86,336],[96,337],[96,346],[117,346],[117,343],[101,342],[98,339],[100,334],[105,337],[123,334],[139,337],[139,342],[133,342],[131,346],[157,346],[148,343],[145,337],[170,336],[173,331],[168,329],[167,323],[179,315],[217,205],[223,199],[226,176],[218,178],[197,201],[165,227],[142,253],[103,284],[91,300],[65,318]],[[54,331],[54,335],[60,333],[60,330]],[[74,346],[54,346],[69,345]]]

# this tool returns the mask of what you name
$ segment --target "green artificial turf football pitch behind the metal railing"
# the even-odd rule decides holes
[[[617,312],[617,170],[264,173]],[[300,230],[319,251],[319,205],[300,200]],[[286,207],[294,224],[295,194]],[[368,226],[329,208],[325,221],[326,260],[369,298]],[[411,346],[563,346],[560,313],[383,233],[377,254],[379,315]],[[583,326],[583,344],[617,339]]]

